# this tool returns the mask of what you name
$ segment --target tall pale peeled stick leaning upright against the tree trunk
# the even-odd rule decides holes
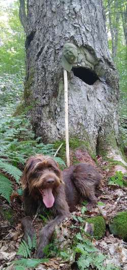
[[[65,85],[65,136],[66,136],[66,157],[67,166],[70,166],[69,157],[69,110],[68,110],[68,75],[67,70],[63,69],[64,85]]]

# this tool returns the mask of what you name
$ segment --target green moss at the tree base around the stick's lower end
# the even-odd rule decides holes
[[[54,142],[54,148],[58,149],[58,147],[60,146],[61,143],[63,145],[58,152],[58,156],[66,161],[66,142],[65,142],[65,140]],[[69,148],[72,151],[75,151],[78,148],[80,148],[82,150],[87,150],[89,152],[90,156],[93,159],[96,159],[96,156],[92,153],[89,142],[87,142],[87,141],[82,141],[82,140],[79,140],[77,138],[71,138],[69,140]],[[73,155],[73,164],[76,164],[76,163],[79,163],[79,161],[77,160],[76,156]]]

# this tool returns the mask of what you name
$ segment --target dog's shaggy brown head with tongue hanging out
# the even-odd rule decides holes
[[[21,182],[23,189],[28,188],[29,194],[39,191],[49,208],[54,203],[52,190],[62,183],[61,171],[53,158],[37,154],[27,160]]]

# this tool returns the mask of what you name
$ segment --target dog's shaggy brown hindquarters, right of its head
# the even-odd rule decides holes
[[[65,182],[66,199],[70,211],[74,211],[75,206],[81,198],[87,199],[91,206],[96,204],[96,187],[99,185],[102,176],[88,163],[79,163],[62,172]]]

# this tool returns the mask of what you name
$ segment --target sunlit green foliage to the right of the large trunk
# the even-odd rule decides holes
[[[110,8],[108,8],[108,2]],[[112,52],[113,43],[116,46],[116,56],[114,57],[115,65],[119,72],[120,77],[120,122],[121,122],[121,142],[124,147],[127,143],[127,132],[126,132],[126,103],[127,103],[127,66],[126,66],[126,40],[124,30],[126,29],[126,0],[108,1],[103,0],[106,14],[106,26],[108,32],[108,44],[109,49]],[[109,19],[110,15],[110,19]],[[119,19],[117,20],[116,18]],[[124,17],[124,19],[123,19]],[[113,36],[111,35],[111,28]],[[118,37],[117,37],[118,34]],[[114,39],[114,42],[113,42]]]

